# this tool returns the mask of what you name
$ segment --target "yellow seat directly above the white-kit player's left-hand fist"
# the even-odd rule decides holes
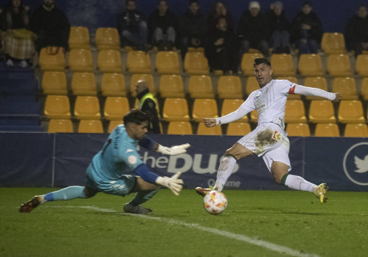
[[[204,118],[218,118],[215,99],[195,99],[192,117],[196,122],[203,122]]]

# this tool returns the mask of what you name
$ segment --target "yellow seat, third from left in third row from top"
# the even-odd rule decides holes
[[[103,73],[101,79],[101,93],[104,96],[125,97],[125,78],[121,73]]]

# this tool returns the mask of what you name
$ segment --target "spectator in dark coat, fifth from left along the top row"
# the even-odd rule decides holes
[[[199,11],[198,0],[190,0],[188,10],[179,21],[178,32],[181,35],[181,55],[183,59],[188,47],[201,47],[207,33],[205,16]]]

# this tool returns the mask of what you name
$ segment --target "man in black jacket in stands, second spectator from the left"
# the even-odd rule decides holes
[[[70,23],[66,15],[54,5],[54,0],[43,0],[33,12],[31,30],[37,34],[36,48],[58,46],[68,50]]]

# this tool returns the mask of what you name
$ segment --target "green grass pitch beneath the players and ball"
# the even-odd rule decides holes
[[[125,214],[133,195],[21,203],[55,188],[0,188],[0,256],[278,257],[368,256],[368,193],[328,192],[320,204],[300,191],[224,191],[227,209],[212,216],[202,197],[160,190],[149,215]]]

